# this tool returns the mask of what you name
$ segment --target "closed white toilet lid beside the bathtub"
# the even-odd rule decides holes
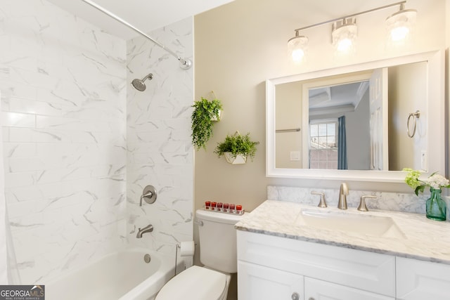
[[[217,300],[225,287],[225,274],[191,266],[169,280],[156,296],[156,300]]]

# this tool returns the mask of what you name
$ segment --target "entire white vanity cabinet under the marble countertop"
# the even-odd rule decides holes
[[[238,230],[241,300],[450,300],[450,265]]]

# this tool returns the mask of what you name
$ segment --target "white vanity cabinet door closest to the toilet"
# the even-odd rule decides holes
[[[238,299],[304,300],[303,276],[238,261]]]

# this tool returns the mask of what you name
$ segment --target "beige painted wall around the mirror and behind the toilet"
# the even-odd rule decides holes
[[[416,39],[407,48],[389,48],[385,44],[383,22],[387,15],[396,11],[394,8],[358,18],[358,48],[349,58],[334,56],[330,25],[305,30],[303,33],[309,36],[309,51],[308,60],[303,65],[290,63],[287,41],[293,37],[295,28],[323,19],[317,16],[315,21],[299,20],[295,12],[305,9],[302,1],[236,0],[195,16],[195,99],[208,96],[213,90],[224,104],[222,119],[214,127],[214,136],[207,143],[207,150],[195,152],[195,208],[205,200],[217,200],[243,204],[244,209],[252,210],[266,199],[266,185],[338,188],[340,181],[321,178],[266,178],[265,80],[444,48],[446,32],[442,24],[445,24],[445,4],[448,1],[408,1],[408,8],[418,10],[418,22],[414,32]],[[326,7],[333,1],[311,2]],[[359,0],[341,2],[340,11],[335,11],[339,16],[392,3],[364,1],[365,6],[362,7]],[[380,26],[373,26],[378,23]],[[231,165],[214,155],[217,142],[236,130],[241,133],[250,131],[251,137],[260,142],[254,162]],[[402,183],[349,182],[349,188],[411,192]]]

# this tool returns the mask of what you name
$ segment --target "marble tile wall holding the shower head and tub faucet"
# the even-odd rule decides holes
[[[150,35],[180,56],[193,56],[193,19],[181,20]],[[193,240],[193,149],[191,105],[193,67],[138,37],[127,41],[128,82],[153,74],[146,91],[127,91],[127,211],[130,244],[167,254],[176,242]],[[139,200],[146,185],[155,186],[154,204]],[[153,233],[136,239],[139,227]]]

